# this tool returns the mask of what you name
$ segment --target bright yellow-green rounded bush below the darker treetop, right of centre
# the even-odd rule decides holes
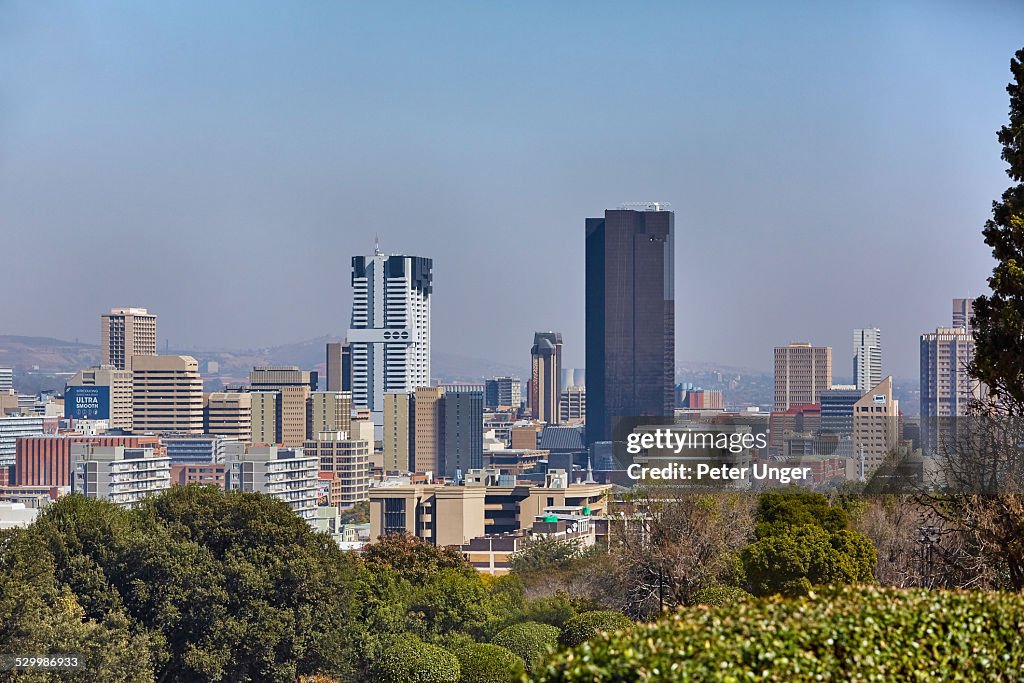
[[[877,553],[861,533],[805,524],[762,538],[742,558],[755,595],[804,595],[812,586],[872,582]]]

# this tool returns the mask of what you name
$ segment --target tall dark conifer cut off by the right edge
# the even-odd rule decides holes
[[[974,302],[975,356],[972,373],[991,389],[1005,409],[1024,410],[1024,49],[1010,60],[1013,82],[1010,123],[998,132],[1007,175],[1016,183],[992,203],[982,234],[992,248],[992,293]]]

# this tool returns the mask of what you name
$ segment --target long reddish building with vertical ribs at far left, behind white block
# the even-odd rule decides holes
[[[158,457],[166,455],[164,444],[155,434],[138,436],[88,436],[84,434],[45,434],[17,439],[14,457],[15,486],[71,486],[71,453],[75,443],[96,447],[124,446],[151,449]]]

